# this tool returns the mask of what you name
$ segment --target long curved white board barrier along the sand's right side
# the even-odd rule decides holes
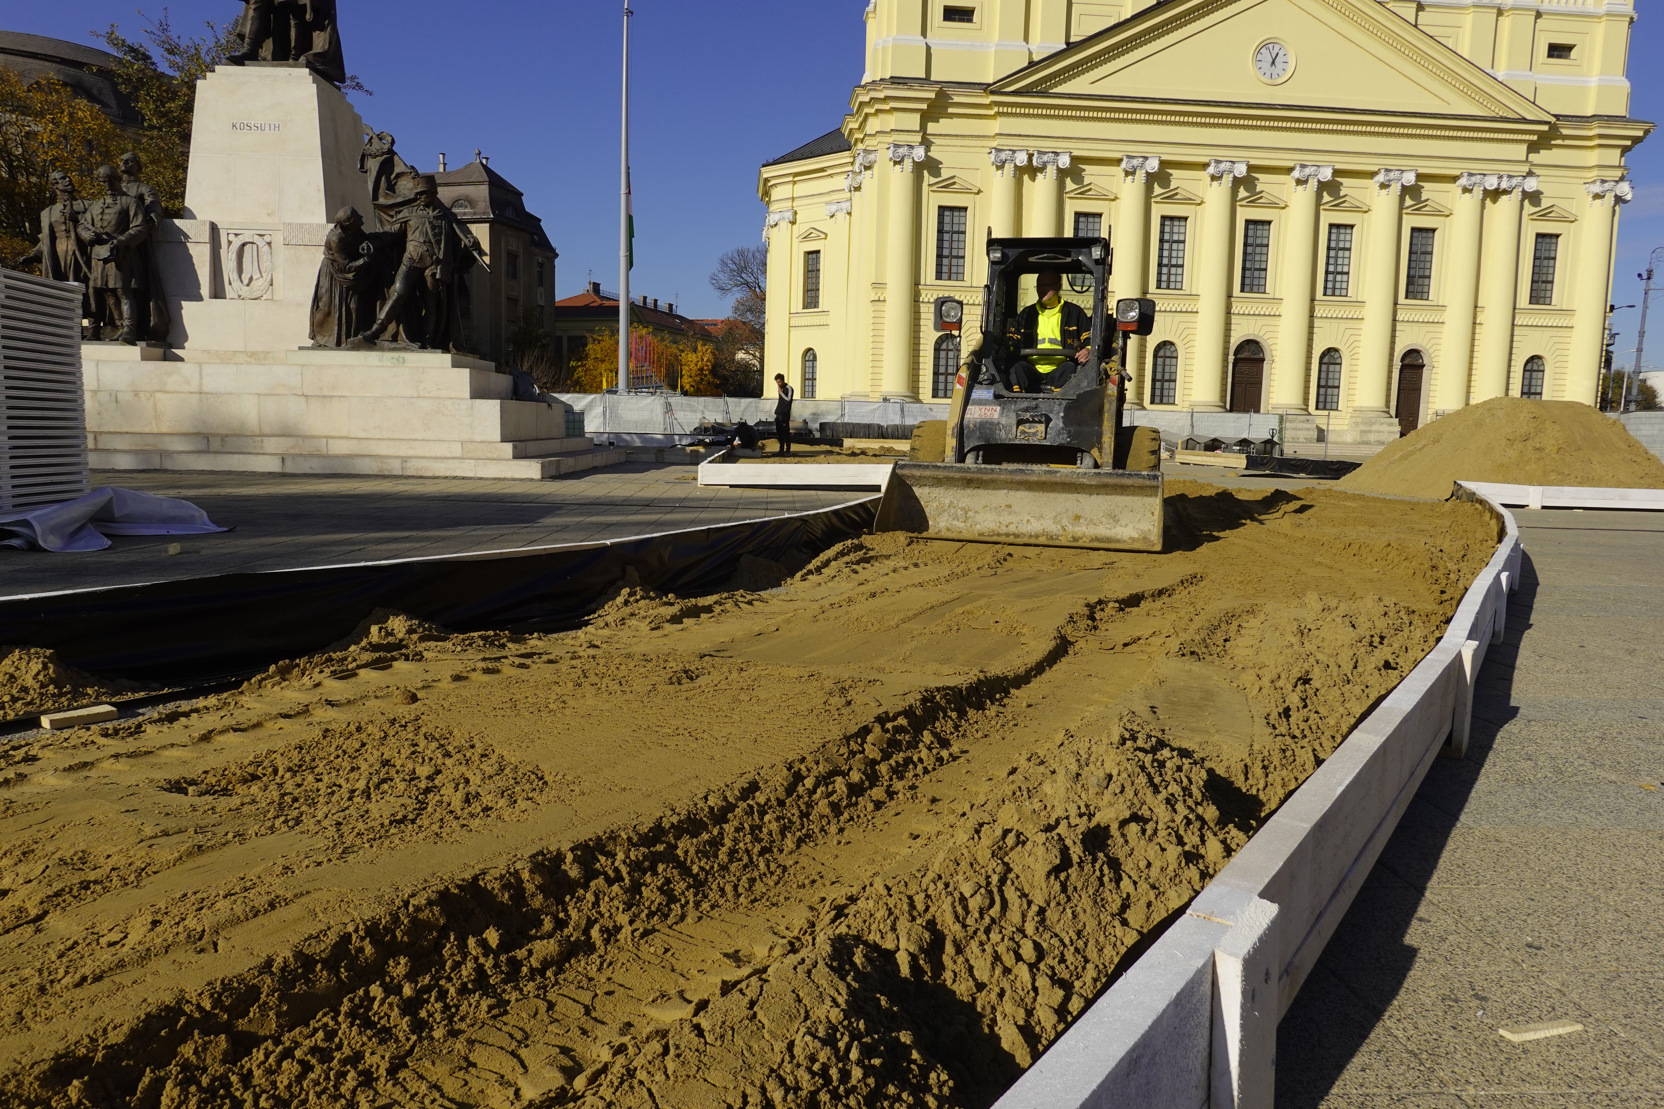
[[[1428,766],[1466,753],[1474,682],[1503,640],[1519,529],[1484,487],[1456,495],[1488,505],[1503,540],[1444,637],[997,1109],[1271,1107],[1278,1021]]]

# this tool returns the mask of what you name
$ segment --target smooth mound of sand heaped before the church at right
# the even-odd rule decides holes
[[[1443,500],[1458,481],[1664,489],[1664,462],[1587,404],[1496,397],[1388,444],[1340,485]]]

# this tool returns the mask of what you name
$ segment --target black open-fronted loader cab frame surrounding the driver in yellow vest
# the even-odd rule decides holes
[[[1108,319],[1108,278],[1112,253],[1108,239],[995,239],[987,243],[988,284],[983,288],[980,374],[975,384],[992,387],[1000,396],[1025,396],[1012,389],[1010,367],[1025,352],[1012,333],[1022,309],[1040,298],[1035,281],[1053,269],[1063,278],[1062,296],[1087,309],[1092,318],[1092,349],[1073,379],[1053,396],[1080,396],[1103,386],[1103,362],[1115,349],[1113,323]]]

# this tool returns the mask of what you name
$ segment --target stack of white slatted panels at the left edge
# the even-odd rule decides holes
[[[0,269],[0,510],[87,492],[82,286]]]

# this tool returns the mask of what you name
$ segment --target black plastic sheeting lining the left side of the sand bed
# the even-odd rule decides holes
[[[98,675],[178,683],[316,652],[376,609],[453,632],[571,627],[631,569],[661,594],[716,592],[740,555],[817,555],[870,530],[877,505],[867,497],[612,542],[0,597],[0,643],[45,647]]]

